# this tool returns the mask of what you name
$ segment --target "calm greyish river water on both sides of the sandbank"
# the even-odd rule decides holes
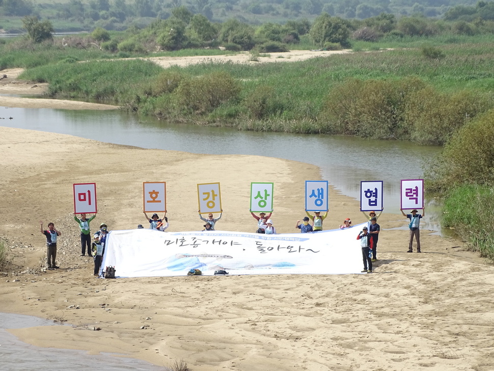
[[[1,98],[0,96],[0,104]],[[360,199],[362,180],[383,180],[385,210],[396,214],[400,214],[400,180],[422,178],[424,161],[441,150],[437,146],[419,146],[400,141],[257,133],[222,127],[172,124],[129,115],[122,111],[69,111],[0,106],[0,117],[4,118],[0,119],[0,126],[69,134],[107,143],[205,154],[257,154],[309,163],[320,168],[323,180],[328,180],[341,193],[355,199]],[[10,117],[12,119],[9,119]],[[262,178],[260,170],[259,181],[268,180]],[[300,184],[300,193],[303,192],[304,184]],[[424,228],[440,231],[438,205],[433,199],[428,200],[426,205],[428,210]],[[407,229],[405,220],[403,229]],[[32,318],[0,313],[1,369],[51,371],[63,368],[92,371],[101,368],[103,364],[104,369],[111,370],[162,369],[127,358],[111,357],[108,360],[104,358],[109,357],[107,355],[88,356],[79,351],[36,348],[16,340],[14,336],[2,330],[9,328],[7,326],[14,323],[14,319],[21,319],[22,326],[18,324],[19,327],[53,325],[36,322],[42,320]],[[19,367],[19,362],[22,362],[22,367]],[[9,364],[13,366],[9,368]],[[109,364],[113,368],[109,367]]]

